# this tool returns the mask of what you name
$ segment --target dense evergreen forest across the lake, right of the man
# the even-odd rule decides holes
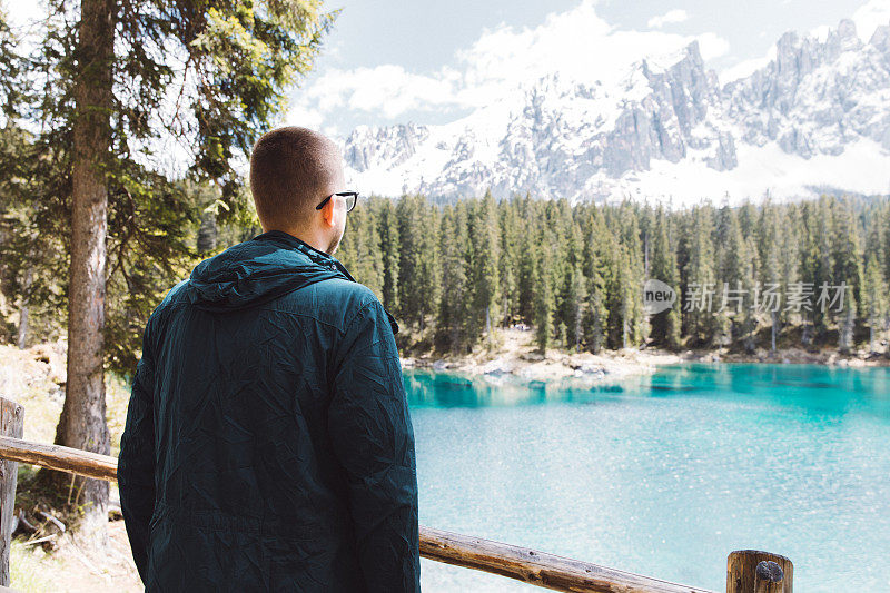
[[[412,349],[466,353],[523,324],[542,349],[849,352],[874,350],[888,328],[888,198],[669,210],[408,195],[363,200],[336,257],[396,315]],[[651,278],[676,291],[672,308],[646,313]],[[696,306],[702,287],[710,307]]]

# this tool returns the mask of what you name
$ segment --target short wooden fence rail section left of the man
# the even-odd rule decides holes
[[[118,461],[115,457],[62,445],[0,436],[0,457],[109,482],[118,480]]]

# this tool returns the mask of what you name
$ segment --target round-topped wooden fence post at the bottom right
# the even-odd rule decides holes
[[[784,556],[739,550],[726,561],[726,593],[792,593],[794,565]]]

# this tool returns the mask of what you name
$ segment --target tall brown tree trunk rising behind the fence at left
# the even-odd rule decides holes
[[[111,147],[110,110],[116,0],[82,0],[73,96],[71,265],[68,293],[68,378],[56,444],[109,455],[102,346],[108,208],[103,166]],[[70,484],[58,474],[57,484]],[[82,491],[80,488],[82,487]],[[108,482],[77,476],[83,506],[82,543],[108,544]]]

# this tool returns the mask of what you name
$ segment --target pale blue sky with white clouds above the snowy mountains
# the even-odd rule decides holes
[[[13,26],[39,0],[0,0]],[[693,40],[721,82],[764,65],[789,30],[824,34],[852,18],[866,40],[890,0],[330,0],[339,10],[310,75],[275,125],[339,141],[358,126],[445,123],[558,72],[593,82]]]

